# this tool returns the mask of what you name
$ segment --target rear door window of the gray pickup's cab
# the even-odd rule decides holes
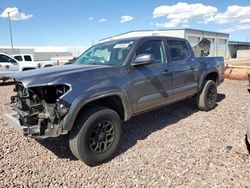
[[[171,61],[183,61],[190,57],[187,44],[184,41],[169,40],[168,49]]]

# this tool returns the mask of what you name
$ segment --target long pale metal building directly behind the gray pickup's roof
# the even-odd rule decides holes
[[[169,29],[169,30],[136,30],[115,35],[109,38],[100,40],[100,42],[106,42],[113,39],[121,39],[127,37],[137,36],[173,36],[187,39],[191,46],[196,46],[203,38],[210,41],[209,56],[222,56],[224,58],[229,57],[228,41],[229,34],[202,31],[197,29]]]

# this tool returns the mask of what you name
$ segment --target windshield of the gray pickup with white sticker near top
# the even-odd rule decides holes
[[[83,65],[121,65],[126,59],[134,41],[118,41],[92,46],[74,64]]]

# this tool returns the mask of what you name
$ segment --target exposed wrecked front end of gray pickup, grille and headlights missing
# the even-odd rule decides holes
[[[71,90],[70,85],[42,85],[25,88],[16,82],[11,106],[25,136],[34,138],[58,137],[67,134],[64,123],[70,104],[62,98]]]

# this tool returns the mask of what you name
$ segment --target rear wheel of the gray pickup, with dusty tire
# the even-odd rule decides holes
[[[213,80],[207,80],[203,89],[196,94],[195,102],[198,109],[209,111],[215,108],[217,101],[217,86]]]

